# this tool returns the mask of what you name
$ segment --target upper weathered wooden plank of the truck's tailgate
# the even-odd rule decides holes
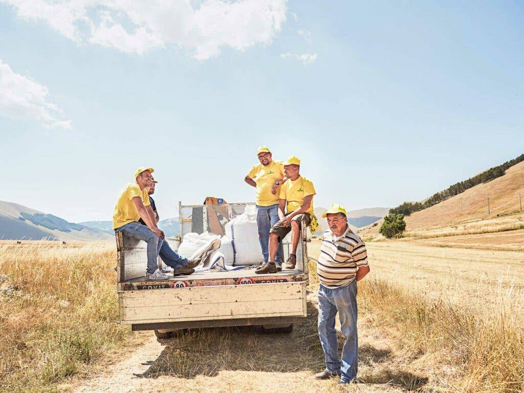
[[[154,284],[154,282],[151,282]],[[271,301],[302,299],[301,283],[272,283],[249,285],[197,286],[167,290],[126,291],[124,307],[182,306],[227,302]]]

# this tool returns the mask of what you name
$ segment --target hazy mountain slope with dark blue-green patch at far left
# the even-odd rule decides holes
[[[52,214],[0,201],[0,239],[4,240],[108,240],[99,229],[68,222]]]

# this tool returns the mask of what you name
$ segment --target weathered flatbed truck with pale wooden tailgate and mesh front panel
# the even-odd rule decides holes
[[[181,236],[191,231],[213,230],[248,204],[191,205],[180,208]],[[227,214],[230,211],[233,213]],[[209,219],[218,215],[220,220]],[[194,222],[198,220],[198,222]],[[202,222],[200,222],[202,220]],[[219,224],[217,224],[219,222]],[[195,229],[196,228],[196,229]],[[117,291],[120,322],[133,331],[154,330],[158,337],[200,327],[261,325],[290,332],[293,323],[307,316],[308,257],[305,228],[297,249],[297,265],[272,274],[256,274],[254,268],[234,271],[201,271],[167,280],[145,280],[146,243],[116,232],[118,251]],[[168,239],[178,249],[182,237]],[[291,245],[282,242],[284,260]],[[261,251],[260,251],[261,257]]]

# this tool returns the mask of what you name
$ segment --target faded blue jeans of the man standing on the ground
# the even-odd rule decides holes
[[[335,316],[339,313],[341,330],[346,341],[342,348],[342,360],[337,352]],[[340,374],[342,382],[347,383],[357,376],[358,336],[357,336],[357,283],[342,288],[319,288],[319,336],[326,358],[326,371]]]

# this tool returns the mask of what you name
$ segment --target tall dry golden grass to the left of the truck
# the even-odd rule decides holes
[[[0,390],[54,391],[129,328],[117,325],[115,246],[0,245]]]

